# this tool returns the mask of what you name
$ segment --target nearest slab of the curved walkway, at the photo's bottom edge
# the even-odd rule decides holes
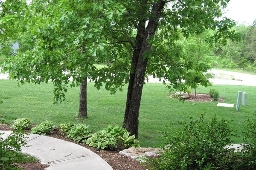
[[[66,161],[50,163],[45,170],[113,170],[112,167],[98,155],[91,155]]]

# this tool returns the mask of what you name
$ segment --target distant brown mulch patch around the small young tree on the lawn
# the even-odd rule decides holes
[[[174,94],[171,94],[169,97],[172,98]],[[195,98],[195,94],[189,94],[189,98],[185,99],[185,101],[189,101],[189,102],[214,102],[214,99],[209,96],[208,94],[196,94],[196,98]],[[219,102],[224,102],[225,99],[224,98],[219,98],[218,100]]]

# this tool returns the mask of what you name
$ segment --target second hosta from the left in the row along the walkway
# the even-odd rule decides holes
[[[41,124],[39,124],[36,127],[33,127],[31,129],[31,133],[38,134],[38,135],[46,135],[47,133],[54,130],[55,125],[53,125],[52,121],[46,121]]]

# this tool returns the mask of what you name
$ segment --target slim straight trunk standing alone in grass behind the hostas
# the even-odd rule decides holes
[[[87,77],[80,85],[80,103],[78,118],[87,118]]]

